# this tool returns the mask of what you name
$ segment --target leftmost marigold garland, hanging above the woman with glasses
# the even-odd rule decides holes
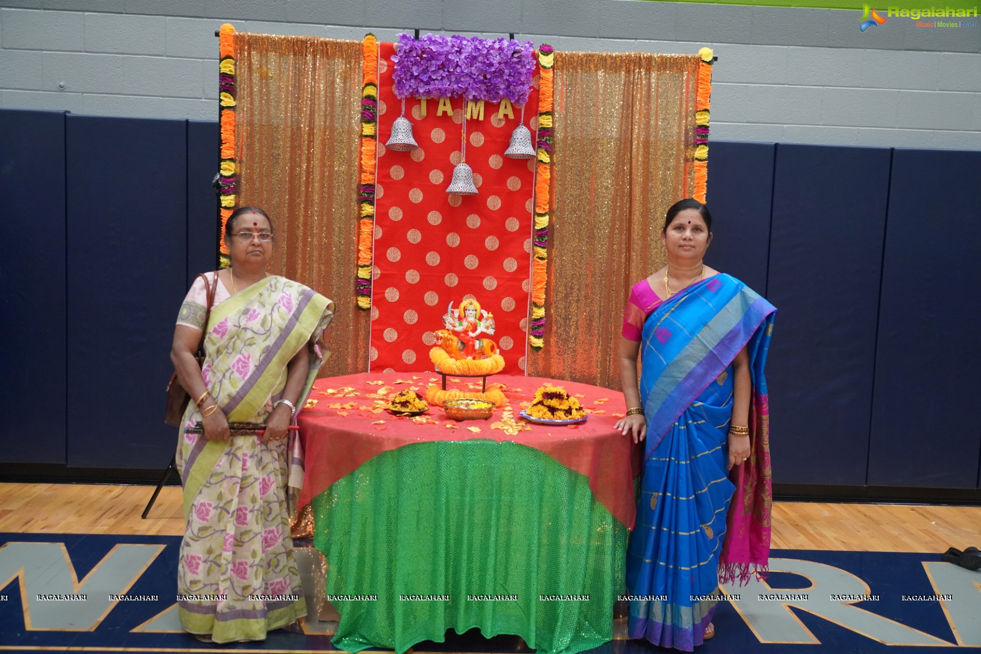
[[[220,221],[219,227],[219,267],[228,268],[229,246],[225,242],[225,225],[235,207],[235,188],[238,167],[235,163],[235,28],[226,23],[218,30],[218,105],[220,107],[219,125],[222,133],[222,162],[218,172]]]

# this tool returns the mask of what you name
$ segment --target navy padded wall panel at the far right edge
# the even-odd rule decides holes
[[[896,150],[868,483],[977,488],[981,152]]]

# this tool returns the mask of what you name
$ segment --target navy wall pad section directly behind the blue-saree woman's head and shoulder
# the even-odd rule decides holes
[[[775,143],[714,143],[705,202],[712,243],[705,263],[766,296]]]

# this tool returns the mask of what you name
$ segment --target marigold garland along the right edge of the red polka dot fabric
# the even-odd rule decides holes
[[[528,342],[536,350],[544,346],[545,281],[548,261],[548,202],[552,164],[552,66],[555,52],[547,43],[539,48],[539,125],[535,175],[535,235],[532,253],[532,315]]]

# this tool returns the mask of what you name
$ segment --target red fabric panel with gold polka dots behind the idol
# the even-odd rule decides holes
[[[484,105],[484,119],[468,119],[466,163],[477,195],[446,193],[453,167],[462,160],[461,98],[452,114],[438,114],[439,100],[406,99],[405,117],[419,147],[385,147],[401,100],[392,87],[394,48],[380,45],[378,174],[372,285],[372,372],[433,370],[429,351],[449,303],[454,309],[474,297],[493,315],[504,373],[525,370],[528,298],[531,291],[532,202],[535,160],[504,156],[521,119],[497,116]],[[525,110],[535,134],[538,75]]]

